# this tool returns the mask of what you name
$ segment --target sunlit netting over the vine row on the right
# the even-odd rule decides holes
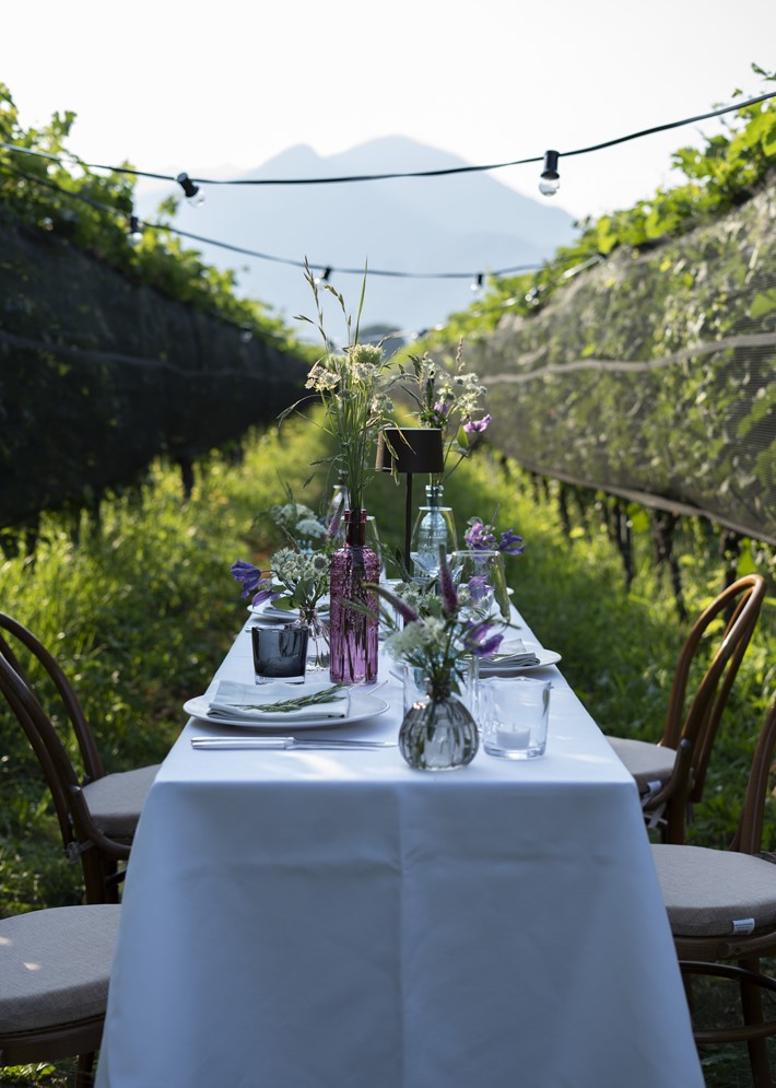
[[[467,351],[493,443],[546,476],[776,543],[776,188],[620,253]]]

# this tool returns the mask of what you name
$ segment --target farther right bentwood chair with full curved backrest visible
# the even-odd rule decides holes
[[[647,824],[658,829],[663,842],[684,841],[689,806],[703,796],[719,721],[764,596],[765,580],[748,574],[724,589],[697,618],[679,656],[666,726],[657,745],[607,737],[636,780]],[[693,677],[704,665],[705,674],[695,686]]]

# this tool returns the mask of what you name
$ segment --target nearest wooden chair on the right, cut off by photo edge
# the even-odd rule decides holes
[[[689,994],[696,974],[732,979],[740,985],[743,1023],[696,1029],[695,1041],[745,1041],[755,1088],[771,1088],[766,1038],[776,1034],[776,1019],[765,1020],[762,1006],[764,992],[776,993],[776,979],[760,970],[761,957],[776,955],[776,865],[761,855],[775,744],[776,701],[757,739],[741,819],[729,850],[652,845]]]

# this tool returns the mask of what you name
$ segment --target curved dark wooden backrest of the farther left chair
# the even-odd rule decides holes
[[[20,663],[15,636],[43,665],[54,681],[78,738],[86,777],[82,781],[59,733],[38,698],[36,683]],[[64,852],[80,862],[91,903],[116,901],[106,893],[117,870],[117,861],[129,856],[129,847],[108,839],[94,823],[82,785],[102,777],[104,770],[79,701],[61,668],[38,640],[21,623],[0,612],[0,694],[19,720],[43,769],[59,822]],[[106,898],[106,894],[108,898]]]

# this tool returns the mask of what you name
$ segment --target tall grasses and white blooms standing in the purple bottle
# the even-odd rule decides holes
[[[384,358],[380,344],[358,343],[358,321],[364,304],[366,274],[355,329],[352,328],[342,295],[330,283],[324,284],[325,290],[337,299],[345,316],[348,344],[341,351],[330,349],[324,328],[318,284],[307,262],[305,278],[313,290],[317,327],[326,344],[326,353],[314,363],[305,386],[320,398],[324,406],[324,430],[339,446],[339,452],[330,460],[344,472],[351,510],[363,510],[364,490],[374,475],[374,470],[367,468],[367,465],[374,465],[377,432],[390,422],[393,409],[385,393],[385,372],[391,364]],[[316,324],[309,317],[299,316],[299,320]],[[298,403],[286,409],[281,418],[294,411]]]

